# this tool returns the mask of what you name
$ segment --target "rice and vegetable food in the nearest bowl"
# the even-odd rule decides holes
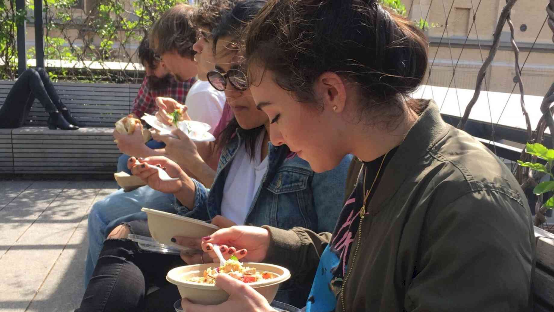
[[[200,284],[216,284],[216,277],[221,273],[228,274],[230,277],[241,280],[244,283],[260,282],[277,277],[277,275],[270,272],[259,272],[255,268],[244,267],[238,258],[232,255],[223,267],[207,268],[204,270],[202,277],[192,277],[188,281]]]

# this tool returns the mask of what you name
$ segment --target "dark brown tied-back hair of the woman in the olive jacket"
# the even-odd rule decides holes
[[[376,0],[269,0],[249,24],[244,49],[247,67],[271,71],[300,102],[317,103],[312,86],[326,71],[354,83],[360,121],[394,117],[378,121],[389,126],[403,103],[416,112],[427,103],[409,99],[427,69],[427,40]]]

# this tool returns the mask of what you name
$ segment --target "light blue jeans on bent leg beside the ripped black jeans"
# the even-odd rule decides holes
[[[104,239],[121,222],[146,220],[142,207],[177,213],[173,194],[152,190],[149,186],[139,187],[131,192],[117,190],[95,203],[89,212],[89,251],[86,254],[85,288],[93,275]]]

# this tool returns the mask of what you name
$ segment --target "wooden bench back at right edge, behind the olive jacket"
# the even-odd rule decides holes
[[[537,266],[533,277],[535,311],[554,311],[554,234],[535,227]]]

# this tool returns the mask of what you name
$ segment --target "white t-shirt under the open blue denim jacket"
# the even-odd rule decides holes
[[[246,221],[254,196],[260,187],[261,179],[268,171],[268,157],[265,156],[264,160],[260,161],[264,135],[265,131],[258,137],[256,156],[253,160],[247,154],[244,144],[239,147],[225,180],[221,215],[239,226],[242,226]]]

